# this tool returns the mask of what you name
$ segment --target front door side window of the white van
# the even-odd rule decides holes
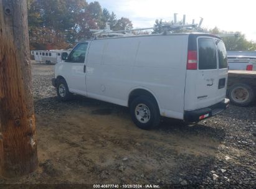
[[[75,46],[65,62],[84,63],[87,46],[88,43],[82,43]]]

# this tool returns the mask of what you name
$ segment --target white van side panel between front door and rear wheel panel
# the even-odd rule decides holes
[[[113,103],[128,104],[133,65],[139,42],[136,39],[105,39],[92,42],[87,65],[87,91],[89,95],[107,97]],[[102,48],[103,46],[103,48]],[[95,53],[97,51],[97,53]],[[98,58],[98,62],[93,60]],[[124,103],[125,102],[125,103]]]

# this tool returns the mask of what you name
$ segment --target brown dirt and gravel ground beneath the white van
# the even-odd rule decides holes
[[[237,107],[230,106],[193,127],[163,119],[159,129],[143,131],[131,121],[128,108],[78,95],[69,102],[59,101],[50,83],[53,70],[53,65],[32,66],[39,168],[25,177],[0,178],[0,184],[151,183],[225,188],[239,183],[234,176],[243,177],[242,167],[248,185],[242,180],[240,186],[253,187],[255,137],[247,140],[254,144],[252,149],[229,142],[230,136],[236,136],[232,127],[240,127],[235,116],[230,118]],[[255,128],[255,107],[249,109],[254,115],[249,122]],[[219,176],[217,180],[213,173]]]

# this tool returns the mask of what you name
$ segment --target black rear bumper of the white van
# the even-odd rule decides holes
[[[196,109],[193,111],[185,111],[184,121],[197,122],[203,119],[210,118],[211,116],[214,116],[224,111],[224,109],[227,109],[227,106],[229,106],[229,99],[225,98],[220,103],[214,104],[206,108]]]

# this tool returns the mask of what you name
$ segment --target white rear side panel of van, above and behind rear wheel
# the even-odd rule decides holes
[[[136,85],[154,91],[159,109],[165,110],[162,114],[173,112],[176,118],[184,111],[187,39],[188,35],[141,39],[133,71]]]

